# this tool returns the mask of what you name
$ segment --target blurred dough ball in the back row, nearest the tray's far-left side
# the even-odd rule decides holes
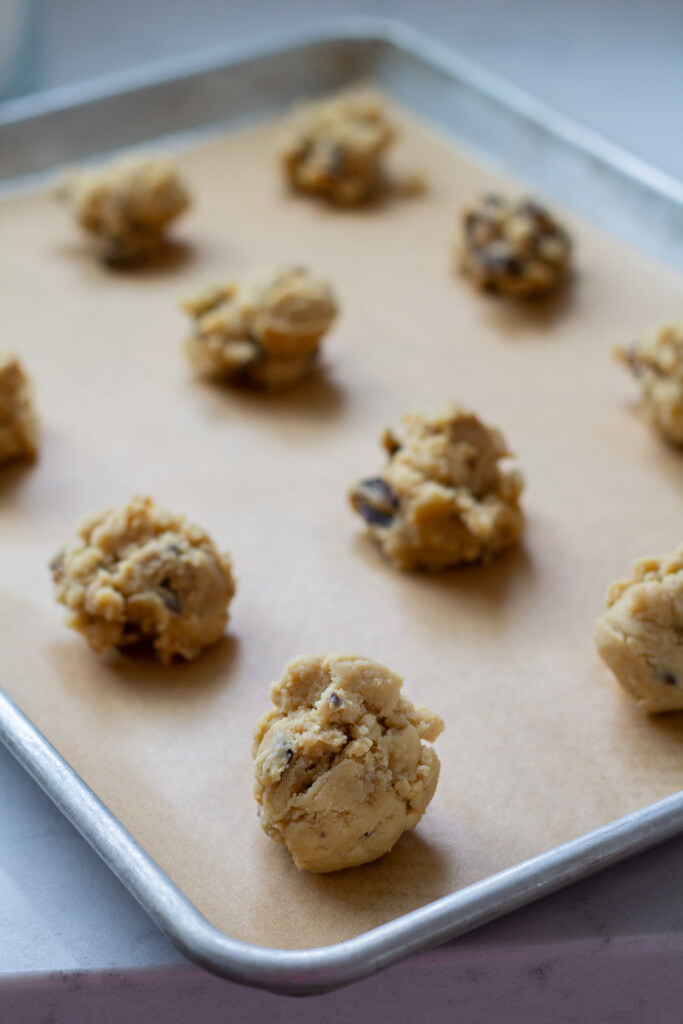
[[[167,225],[189,205],[169,160],[127,157],[96,170],[73,172],[58,191],[105,263],[154,259]]]

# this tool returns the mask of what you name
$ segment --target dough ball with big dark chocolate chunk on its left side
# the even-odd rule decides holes
[[[524,484],[500,465],[510,455],[501,432],[453,402],[402,422],[403,437],[382,436],[389,461],[380,475],[350,494],[387,558],[401,569],[444,569],[514,544]]]

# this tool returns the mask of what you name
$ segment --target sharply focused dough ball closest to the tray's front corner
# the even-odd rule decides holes
[[[402,679],[355,654],[303,654],[270,687],[254,730],[254,796],[264,830],[299,868],[376,860],[414,828],[439,761],[422,740],[437,715],[400,695]]]

